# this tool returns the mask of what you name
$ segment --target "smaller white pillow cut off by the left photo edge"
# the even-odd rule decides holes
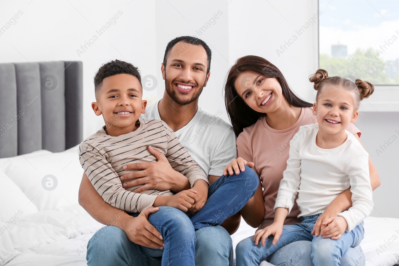
[[[26,197],[21,189],[0,169],[0,235],[14,225],[21,215],[37,213],[38,208]]]

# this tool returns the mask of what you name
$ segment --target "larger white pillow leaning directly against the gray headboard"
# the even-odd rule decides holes
[[[64,152],[36,152],[0,159],[0,168],[39,211],[77,204],[83,169],[78,147]],[[51,190],[53,189],[53,190]]]

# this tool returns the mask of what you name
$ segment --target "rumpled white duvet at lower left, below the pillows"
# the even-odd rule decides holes
[[[0,249],[9,250],[0,265],[86,265],[87,242],[102,226],[80,206],[21,215],[0,236]]]

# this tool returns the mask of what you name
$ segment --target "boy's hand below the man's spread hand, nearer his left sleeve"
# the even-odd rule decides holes
[[[183,190],[173,196],[158,196],[152,206],[169,206],[186,213],[196,203],[197,191],[194,189]]]

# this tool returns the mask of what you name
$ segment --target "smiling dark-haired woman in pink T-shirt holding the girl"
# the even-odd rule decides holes
[[[298,98],[289,89],[275,65],[253,55],[241,57],[231,67],[225,85],[225,104],[238,137],[237,159],[225,168],[224,174],[233,171],[239,173],[245,164],[255,169],[262,184],[241,211],[241,216],[252,227],[262,229],[273,223],[273,207],[282,172],[286,169],[289,141],[300,126],[316,123],[312,104]],[[348,130],[359,140],[361,132],[353,124]],[[374,190],[380,181],[370,158],[369,172]],[[342,185],[347,184],[347,180],[344,180]],[[262,194],[263,199],[260,198]],[[313,233],[316,236],[321,234],[328,237],[329,232],[323,231],[326,227],[324,221],[349,209],[352,206],[351,195],[346,190],[330,203],[314,226]],[[265,215],[259,219],[259,214],[263,213]],[[284,224],[299,222],[298,214],[295,204]],[[309,266],[312,265],[311,251],[310,241],[297,241],[280,248],[269,256],[268,261],[276,266]],[[350,248],[341,260],[341,265],[364,264],[360,246]]]

